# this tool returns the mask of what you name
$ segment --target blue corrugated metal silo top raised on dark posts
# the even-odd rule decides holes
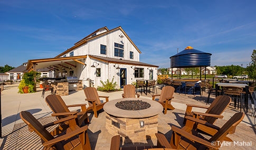
[[[191,46],[170,57],[170,67],[188,68],[211,66],[211,53],[205,53]]]

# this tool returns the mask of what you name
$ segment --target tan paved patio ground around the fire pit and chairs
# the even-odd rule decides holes
[[[17,89],[18,83],[5,86],[2,92],[2,135],[0,149],[43,149],[40,138],[34,133],[27,130],[26,124],[21,120],[18,114],[21,111],[31,112],[42,124],[47,124],[55,120],[51,117],[51,109],[46,105],[44,98],[41,97],[42,92],[39,90],[32,94],[18,94]],[[158,88],[158,94],[160,89]],[[122,91],[103,93],[98,92],[99,95],[110,96],[109,100],[121,98]],[[45,97],[49,95],[50,92],[45,92]],[[140,93],[139,93],[140,94]],[[205,106],[207,99],[207,94],[204,93],[202,97],[192,96],[184,94],[174,94],[174,99],[172,100],[175,110],[168,110],[167,114],[159,114],[158,119],[158,132],[165,134],[168,141],[172,135],[171,126],[183,127],[182,124],[184,113],[186,109],[185,104],[196,104]],[[145,95],[141,94],[142,98],[151,99],[151,93]],[[87,103],[84,101],[83,91],[70,92],[68,96],[62,96],[63,100],[67,105],[70,104],[83,104]],[[214,96],[211,96],[211,101],[213,101]],[[102,99],[103,100],[103,99]],[[105,101],[105,100],[104,100]],[[210,101],[210,102],[211,102]],[[72,110],[77,110],[79,107],[74,107]],[[203,109],[195,109],[194,111],[204,112]],[[243,110],[244,111],[244,110]],[[234,109],[230,105],[226,111],[222,114],[223,119],[218,119],[215,125],[222,126],[227,119],[229,119],[234,113],[238,112],[238,109]],[[252,126],[255,124],[254,118],[248,113],[242,123],[236,127],[236,132],[232,135],[228,135],[233,141],[239,142],[252,142],[251,146],[223,146],[220,149],[256,149],[255,135],[256,130]],[[95,118],[93,113],[89,113],[90,124],[88,125],[88,134],[92,149],[109,149],[110,141],[113,135],[109,134],[105,128],[105,112],[99,112],[99,117]],[[84,124],[83,124],[84,125]],[[49,128],[51,131],[52,128]],[[205,136],[207,137],[207,136]],[[144,145],[156,145],[156,139],[148,139],[144,141],[138,141],[136,143],[124,144],[122,147],[130,146],[144,146]]]

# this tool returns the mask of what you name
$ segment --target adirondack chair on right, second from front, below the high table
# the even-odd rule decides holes
[[[197,106],[197,105],[189,105],[187,104],[186,108],[186,116],[191,116],[194,118],[202,119],[209,124],[214,124],[217,118],[223,118],[221,114],[225,111],[226,107],[229,106],[231,102],[231,98],[226,95],[217,96],[210,107],[207,106]],[[207,111],[205,113],[200,112],[192,112],[192,107],[205,108]],[[186,124],[186,118],[184,117],[183,124]],[[197,126],[197,129],[201,129],[204,132],[211,132],[212,128],[208,128],[202,124]]]

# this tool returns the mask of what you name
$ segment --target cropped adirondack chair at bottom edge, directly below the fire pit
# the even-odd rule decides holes
[[[169,145],[169,143],[167,142]],[[120,135],[113,136],[111,138],[111,145],[110,145],[110,150],[131,150],[131,149],[136,149],[136,150],[173,150],[172,147],[169,146],[165,148],[157,148],[157,146],[137,146],[137,147],[119,147],[120,146]]]

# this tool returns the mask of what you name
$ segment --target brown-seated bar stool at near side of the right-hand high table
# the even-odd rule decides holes
[[[242,111],[242,92],[243,88],[242,87],[234,87],[234,86],[224,86],[223,87],[223,92],[226,95],[232,95],[231,98],[234,98],[234,96],[239,96],[238,99],[240,99],[240,112]],[[236,107],[236,97],[234,100],[234,106]],[[239,109],[239,100],[238,100],[238,109]]]

